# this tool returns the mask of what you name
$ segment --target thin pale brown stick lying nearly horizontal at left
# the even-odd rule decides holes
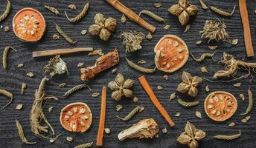
[[[68,49],[58,49],[58,50],[44,50],[44,51],[34,51],[32,53],[32,57],[41,57],[41,56],[49,56],[49,55],[65,55],[68,53],[80,53],[92,51],[92,47],[80,47],[80,48],[68,48]]]

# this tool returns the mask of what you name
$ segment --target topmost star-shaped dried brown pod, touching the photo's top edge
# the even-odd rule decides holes
[[[179,4],[173,4],[168,11],[179,17],[179,22],[182,25],[188,24],[189,16],[195,16],[198,7],[190,4],[189,0],[179,0]]]

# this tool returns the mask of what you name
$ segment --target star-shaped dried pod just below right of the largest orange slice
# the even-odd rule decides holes
[[[202,83],[202,78],[199,76],[191,76],[188,72],[182,73],[182,83],[180,83],[177,87],[178,92],[188,92],[188,95],[191,95],[192,97],[195,97],[197,95],[197,88],[199,84]]]

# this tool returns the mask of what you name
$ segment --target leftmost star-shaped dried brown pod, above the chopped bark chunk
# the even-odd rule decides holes
[[[97,13],[95,15],[95,24],[89,27],[89,33],[92,36],[100,36],[103,41],[109,40],[111,32],[115,30],[117,26],[116,19],[109,17],[105,19],[103,14]]]

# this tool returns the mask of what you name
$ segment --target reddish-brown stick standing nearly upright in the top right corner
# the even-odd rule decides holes
[[[254,56],[254,51],[252,47],[251,30],[250,30],[250,23],[248,18],[248,11],[246,7],[246,0],[239,0],[239,10],[240,10],[240,16],[243,24],[243,36],[244,36],[244,43],[246,45],[247,57],[252,57]]]

